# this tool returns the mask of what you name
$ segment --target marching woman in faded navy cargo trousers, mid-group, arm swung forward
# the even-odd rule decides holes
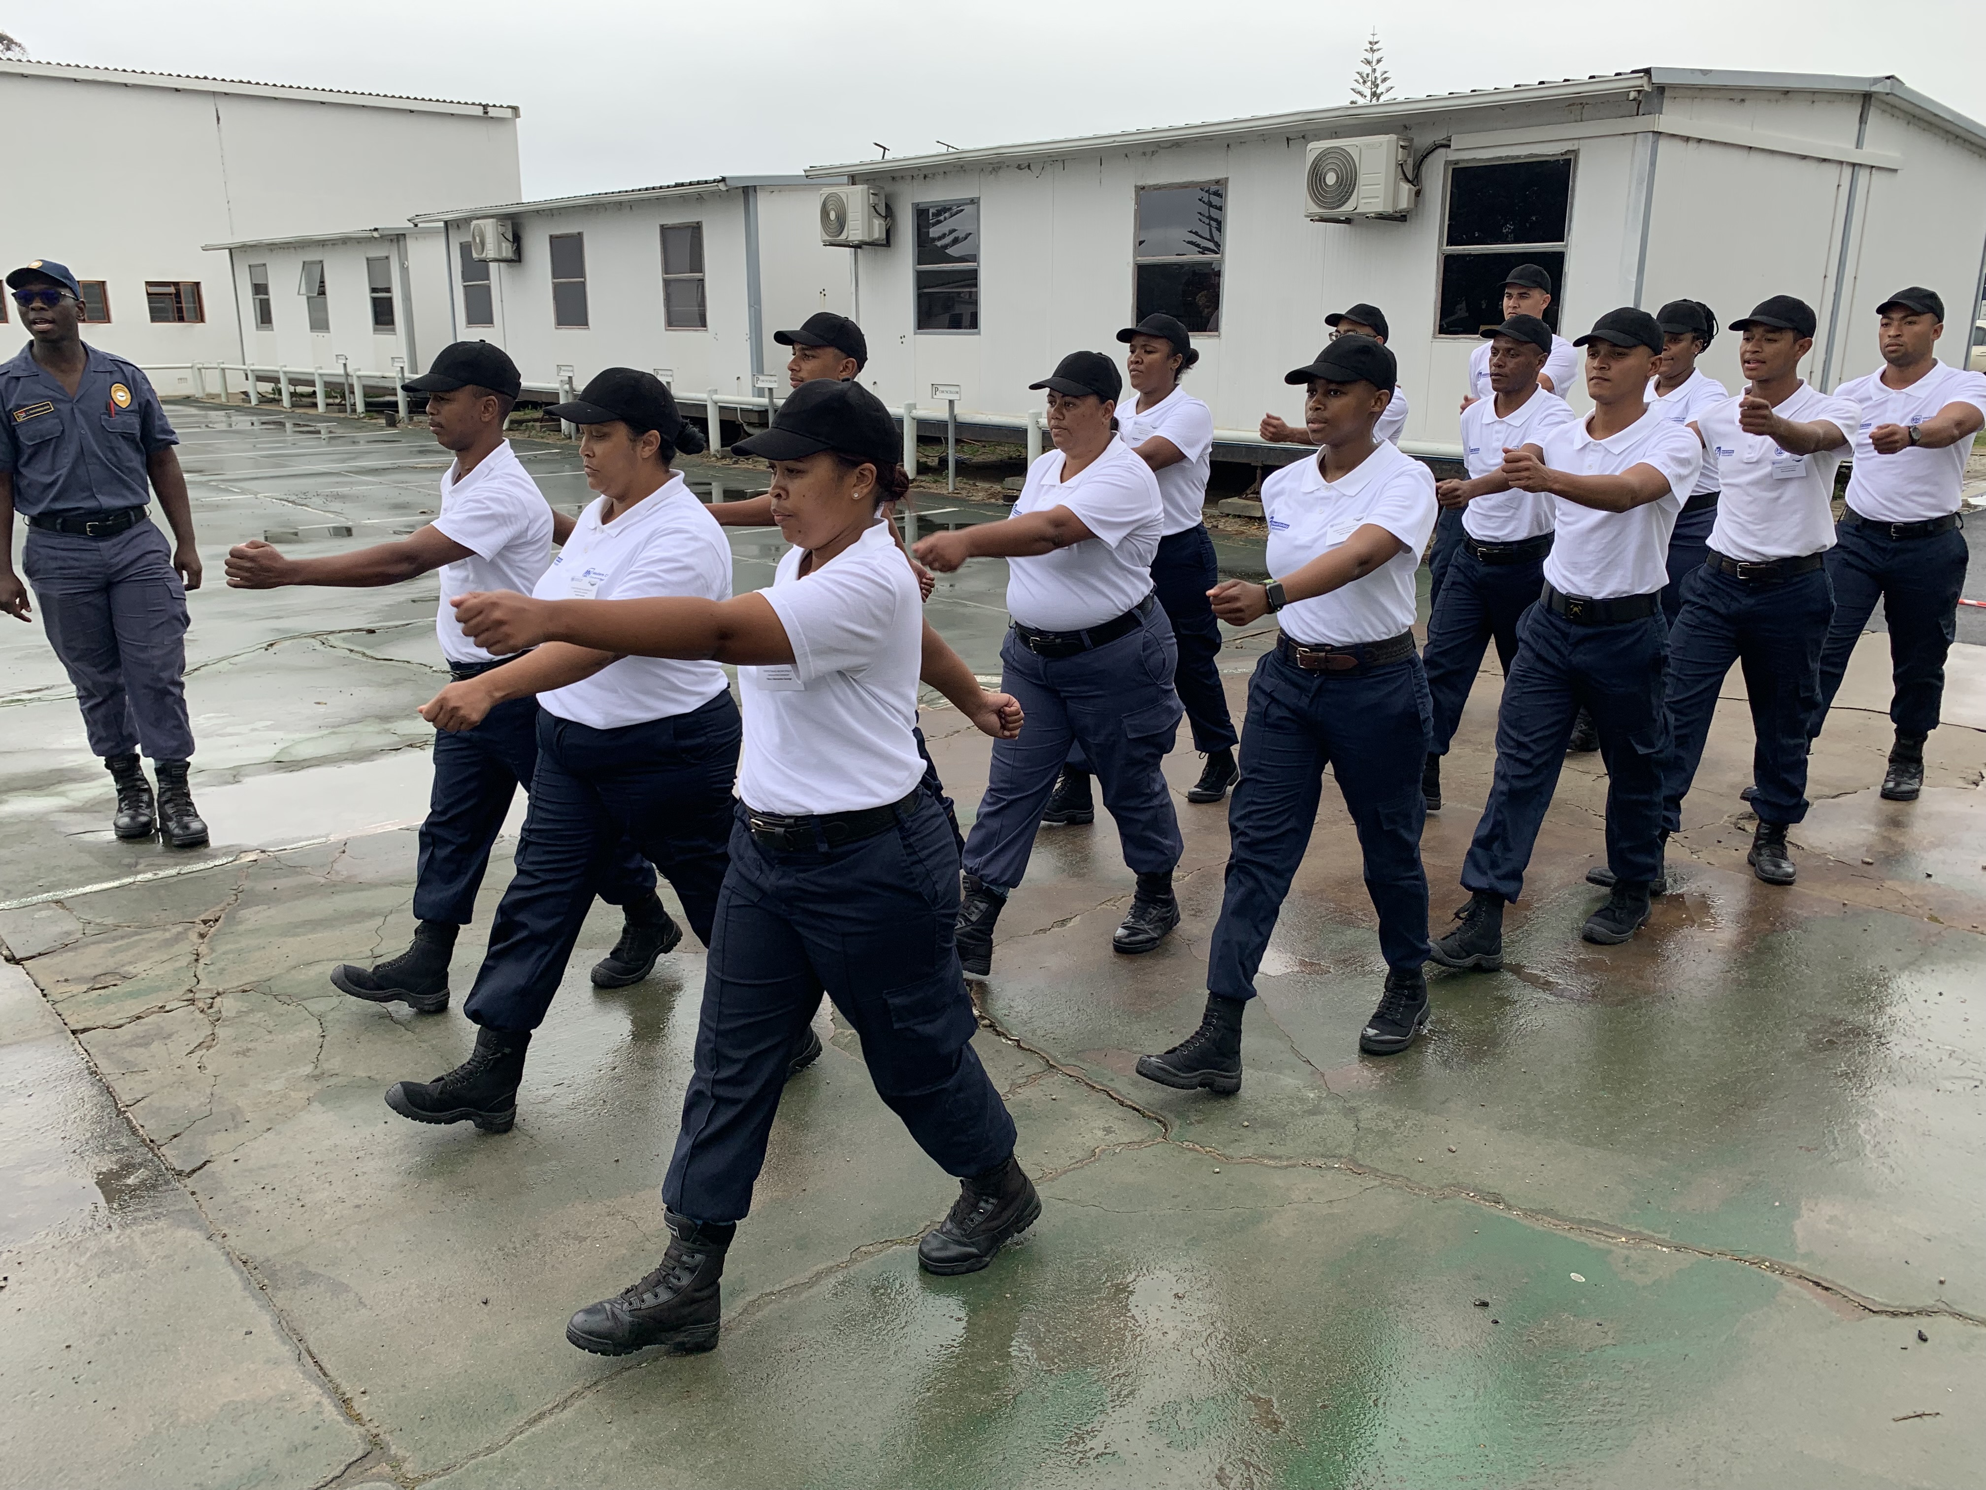
[[[1047,451],[1003,522],[933,532],[918,558],[949,574],[1007,558],[1001,687],[1027,711],[1019,739],[995,739],[985,797],[965,838],[959,960],[993,968],[993,924],[1027,874],[1041,813],[1072,745],[1102,779],[1124,862],[1138,876],[1110,944],[1152,952],[1180,924],[1172,870],[1186,844],[1160,771],[1180,727],[1178,644],[1152,586],[1164,526],[1158,477],[1110,427],[1122,377],[1100,352],[1070,352],[1033,389],[1049,391]]]

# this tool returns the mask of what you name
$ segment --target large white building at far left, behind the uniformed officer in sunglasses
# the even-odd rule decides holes
[[[187,364],[254,356],[246,280],[214,244],[403,230],[437,179],[455,201],[512,199],[516,119],[504,103],[4,60],[0,135],[50,169],[32,211],[0,221],[0,258],[68,264],[85,340],[159,370],[161,391],[187,391]],[[272,282],[272,300],[302,314],[294,280]],[[18,332],[14,308],[0,310]]]

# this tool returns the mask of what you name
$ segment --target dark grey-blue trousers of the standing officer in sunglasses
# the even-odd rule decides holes
[[[42,606],[95,755],[193,755],[187,723],[187,590],[151,522],[109,538],[28,528],[22,570]]]

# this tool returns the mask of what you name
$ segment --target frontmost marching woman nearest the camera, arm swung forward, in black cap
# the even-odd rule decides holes
[[[876,521],[910,487],[898,449],[874,393],[806,383],[769,431],[733,447],[773,463],[792,542],[773,588],[735,600],[461,602],[485,646],[731,662],[745,697],[731,870],[661,1190],[671,1242],[651,1273],[572,1315],[566,1339],[584,1351],[717,1343],[725,1254],[751,1210],[786,1053],[822,989],[862,1037],[876,1093],[959,1178],[918,1264],[977,1271],[1041,1214],[1013,1118],[971,1047],[977,1017],[951,946],[957,854],[910,739],[929,628]],[[1005,737],[1021,719],[1011,697],[983,693],[973,723]]]

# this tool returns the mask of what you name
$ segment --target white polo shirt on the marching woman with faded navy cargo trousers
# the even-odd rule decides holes
[[[1011,517],[1066,507],[1094,538],[1031,558],[1007,560],[1007,614],[1043,632],[1080,632],[1116,620],[1152,594],[1152,556],[1164,530],[1164,499],[1152,467],[1112,439],[1104,453],[1063,481],[1063,453],[1043,451]],[[908,564],[906,564],[908,568]]]

